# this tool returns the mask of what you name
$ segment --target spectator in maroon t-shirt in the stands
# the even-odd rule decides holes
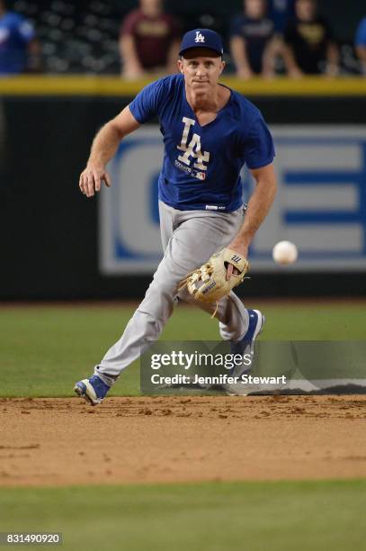
[[[180,46],[179,23],[164,13],[163,0],[139,0],[121,28],[120,51],[124,77],[174,73]]]

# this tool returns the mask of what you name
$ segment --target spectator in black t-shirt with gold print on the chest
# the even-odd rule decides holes
[[[288,23],[284,40],[283,59],[290,77],[338,72],[338,48],[328,23],[317,14],[316,0],[296,0],[295,18]]]

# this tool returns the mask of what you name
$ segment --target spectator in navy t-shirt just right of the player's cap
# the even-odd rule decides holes
[[[233,19],[230,31],[231,56],[240,78],[273,74],[274,25],[267,16],[265,0],[244,0],[244,13]]]

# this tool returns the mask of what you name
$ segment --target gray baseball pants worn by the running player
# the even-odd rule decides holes
[[[159,202],[159,212],[164,257],[121,339],[95,366],[94,373],[105,384],[113,384],[121,371],[159,338],[178,300],[193,303],[213,314],[216,303],[197,302],[186,289],[178,293],[177,287],[188,272],[200,267],[214,252],[230,243],[244,215],[242,208],[235,212],[177,211],[162,202]],[[248,313],[235,293],[219,301],[216,317],[222,339],[237,340],[244,336]]]

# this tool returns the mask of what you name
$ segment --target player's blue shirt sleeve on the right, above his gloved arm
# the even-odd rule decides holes
[[[274,158],[271,132],[258,112],[245,139],[245,163],[248,168],[266,167]]]

